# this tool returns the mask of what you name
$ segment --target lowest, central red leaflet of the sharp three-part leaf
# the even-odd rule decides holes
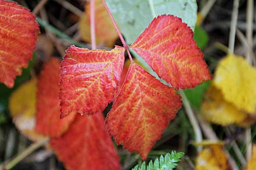
[[[174,88],[163,85],[139,65],[131,63],[106,124],[117,144],[146,159],[181,105]]]

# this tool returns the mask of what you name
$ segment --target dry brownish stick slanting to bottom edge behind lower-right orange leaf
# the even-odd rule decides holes
[[[216,136],[215,132],[212,130],[212,127],[210,127],[206,122],[204,122],[204,119],[201,119],[199,117],[198,120],[202,127],[204,135],[210,140],[218,141],[219,139]],[[224,149],[224,152],[227,155],[227,159],[232,167],[232,170],[239,170],[239,168],[237,167],[236,161],[230,156],[229,152],[226,149]]]

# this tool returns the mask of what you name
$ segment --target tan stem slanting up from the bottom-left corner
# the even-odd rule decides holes
[[[9,161],[6,165],[3,165],[3,169],[11,170],[12,167],[14,167],[17,163],[19,163],[21,160],[26,158],[26,156],[28,156],[29,154],[34,152],[39,147],[47,144],[48,141],[49,141],[49,138],[44,138],[41,141],[31,144],[29,147],[27,147],[25,150],[23,150],[21,153],[19,153],[15,158],[13,158],[11,161]]]

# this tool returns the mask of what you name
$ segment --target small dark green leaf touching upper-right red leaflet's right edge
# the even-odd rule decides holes
[[[208,43],[209,36],[201,26],[195,26],[194,39],[199,48],[204,49]]]

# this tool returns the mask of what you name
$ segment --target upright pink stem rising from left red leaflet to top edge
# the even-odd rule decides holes
[[[95,36],[95,2],[90,0],[90,31],[92,49],[96,49],[96,36]]]

